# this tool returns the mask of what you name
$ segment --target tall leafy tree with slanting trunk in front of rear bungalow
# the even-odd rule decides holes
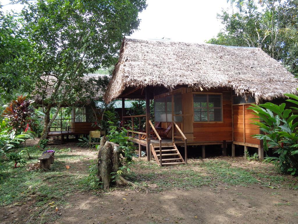
[[[32,94],[41,94],[45,114],[56,106],[52,119],[61,105],[81,99],[85,74],[115,64],[123,36],[138,28],[138,13],[147,6],[145,0],[22,2],[21,30],[33,45],[27,58]],[[50,125],[45,119],[41,140]]]

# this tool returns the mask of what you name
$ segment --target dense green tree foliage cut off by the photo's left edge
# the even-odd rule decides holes
[[[6,103],[15,90],[23,91],[32,81],[25,57],[31,53],[31,43],[21,30],[23,18],[17,13],[4,13],[0,4],[0,100]],[[20,94],[19,94],[20,95]]]

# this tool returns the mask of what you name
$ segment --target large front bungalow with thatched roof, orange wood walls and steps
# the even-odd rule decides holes
[[[297,79],[260,48],[125,37],[104,99],[145,99],[146,130],[133,126],[130,139],[159,165],[186,163],[188,145],[201,145],[203,157],[205,145],[221,145],[226,155],[232,144],[232,156],[235,145],[255,147],[262,160],[263,144],[251,136],[260,130],[247,108],[283,100],[297,87]]]

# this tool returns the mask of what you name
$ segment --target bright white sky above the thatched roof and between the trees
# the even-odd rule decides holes
[[[9,0],[0,0],[5,5]],[[147,0],[148,7],[139,13],[141,23],[133,37],[162,37],[176,41],[204,42],[220,31],[216,14],[231,9],[226,0]],[[7,5],[3,10],[20,10],[21,5]]]

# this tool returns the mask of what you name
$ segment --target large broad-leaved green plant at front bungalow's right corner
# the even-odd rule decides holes
[[[293,94],[285,94],[292,98],[288,102],[298,105],[298,96]],[[297,107],[285,109],[286,104],[275,105],[273,103],[265,103],[260,105],[252,105],[248,109],[253,110],[254,114],[259,116],[259,121],[254,120],[255,125],[260,127],[262,134],[253,135],[263,140],[264,150],[273,148],[276,157],[265,157],[264,162],[272,162],[283,173],[297,175],[298,172],[298,122],[294,120],[298,115],[293,110]]]

